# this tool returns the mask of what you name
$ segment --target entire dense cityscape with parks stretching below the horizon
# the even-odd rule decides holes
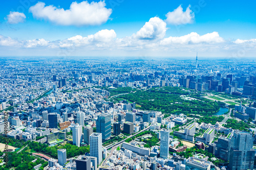
[[[253,59],[0,60],[0,169],[256,167]]]

